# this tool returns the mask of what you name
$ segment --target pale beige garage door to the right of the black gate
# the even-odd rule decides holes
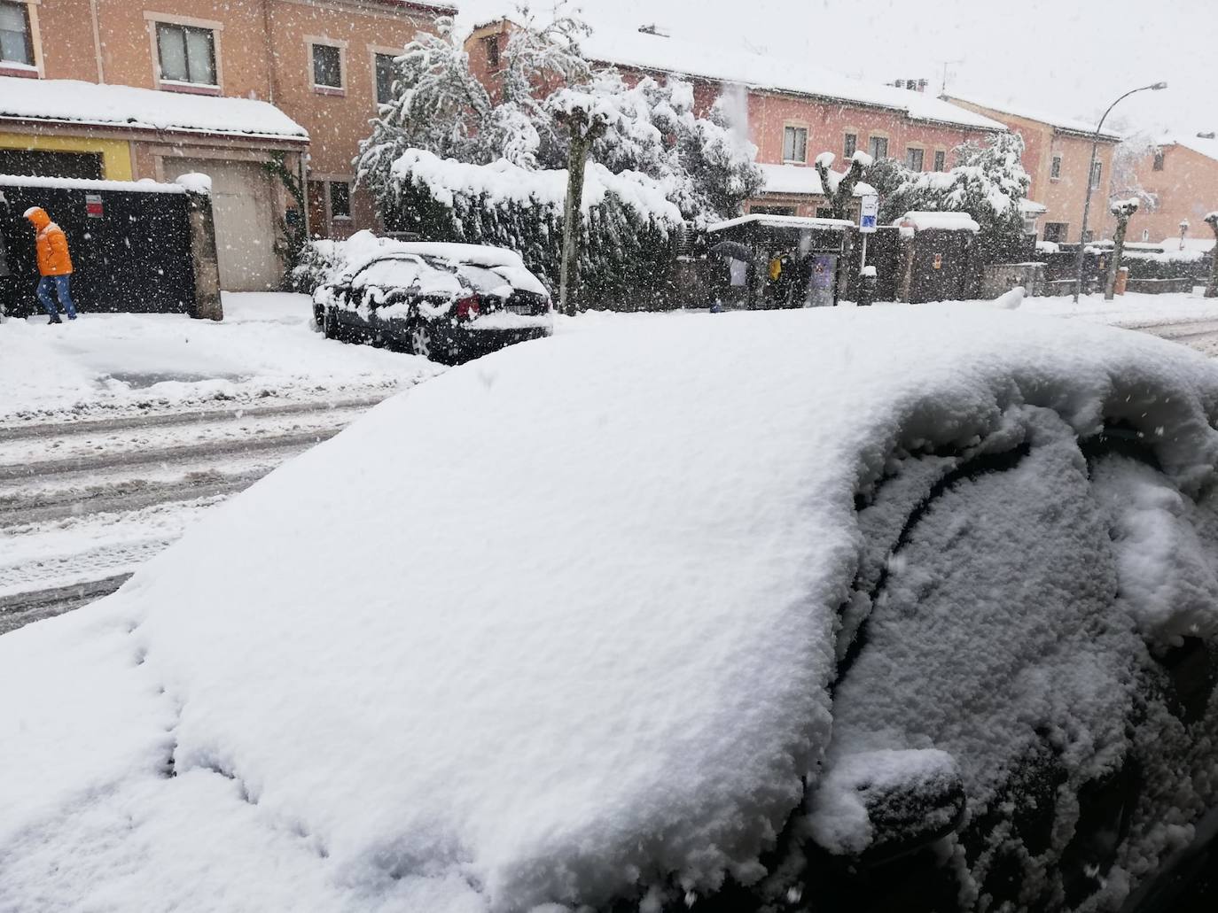
[[[269,175],[255,162],[164,159],[167,180],[191,172],[212,179],[220,287],[230,292],[278,289],[283,267],[275,256],[278,229]]]

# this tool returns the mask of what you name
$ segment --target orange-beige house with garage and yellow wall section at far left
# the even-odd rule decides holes
[[[227,289],[278,285],[283,218],[375,228],[352,158],[429,0],[0,0],[0,172],[211,175]],[[263,164],[307,181],[307,212]]]

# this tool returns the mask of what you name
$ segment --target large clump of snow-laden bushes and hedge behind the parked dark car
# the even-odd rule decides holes
[[[516,18],[492,85],[474,74],[451,23],[407,45],[393,100],[361,144],[358,180],[391,229],[514,247],[554,280],[565,195],[557,179],[565,180],[570,151],[564,106],[577,102],[594,110],[603,128],[591,153],[582,263],[610,270],[588,275],[586,292],[616,290],[599,298],[604,304],[646,298],[667,271],[667,241],[681,222],[739,215],[760,189],[756,147],[733,125],[730,105],[700,116],[687,82],[631,84],[616,71],[594,69],[579,45],[587,27],[561,9],[548,24],[526,10]],[[446,167],[438,177],[436,163],[449,159],[474,170]],[[503,190],[505,174],[512,192],[488,190]],[[471,183],[454,183],[458,175]],[[614,175],[625,180],[610,181]],[[557,203],[553,189],[563,191]],[[647,281],[636,287],[630,276]]]

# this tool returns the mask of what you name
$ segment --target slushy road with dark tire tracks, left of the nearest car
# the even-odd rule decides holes
[[[113,592],[207,508],[381,398],[0,430],[0,634]]]

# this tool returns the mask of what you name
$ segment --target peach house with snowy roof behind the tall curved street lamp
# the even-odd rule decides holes
[[[1083,226],[1088,172],[1095,124],[1032,111],[1021,105],[983,102],[973,97],[950,96],[954,105],[976,111],[1023,138],[1023,167],[1032,178],[1028,200],[1044,207],[1037,213],[1040,237],[1045,241],[1078,241]],[[1088,236],[1100,237],[1108,223],[1108,186],[1112,177],[1112,152],[1121,135],[1099,135],[1096,164],[1090,170],[1091,212]],[[1026,217],[1030,213],[1026,212]]]

